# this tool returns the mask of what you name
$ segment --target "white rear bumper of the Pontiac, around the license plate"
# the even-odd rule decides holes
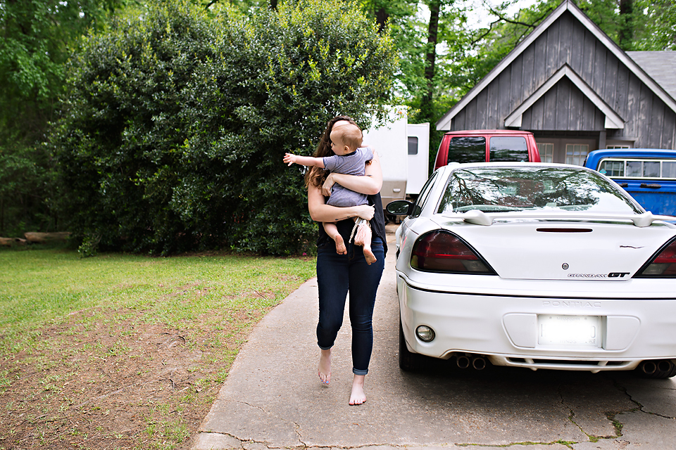
[[[645,360],[676,360],[676,300],[435,292],[413,286],[401,274],[397,284],[411,352],[441,359],[482,355],[498,366],[594,372],[630,370]],[[598,321],[598,341],[543,343],[539,327],[548,315]],[[434,330],[432,342],[416,337],[420,325]]]

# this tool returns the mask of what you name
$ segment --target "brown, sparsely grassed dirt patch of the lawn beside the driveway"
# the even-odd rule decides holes
[[[39,330],[0,355],[0,449],[188,449],[264,312],[169,329],[92,309]]]

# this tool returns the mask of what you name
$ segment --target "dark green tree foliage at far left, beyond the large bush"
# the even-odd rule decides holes
[[[0,233],[58,226],[51,210],[49,121],[64,64],[89,27],[123,0],[0,0]]]

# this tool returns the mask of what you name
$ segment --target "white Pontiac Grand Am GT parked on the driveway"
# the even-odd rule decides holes
[[[396,232],[399,364],[676,375],[676,226],[585,167],[451,164]]]

